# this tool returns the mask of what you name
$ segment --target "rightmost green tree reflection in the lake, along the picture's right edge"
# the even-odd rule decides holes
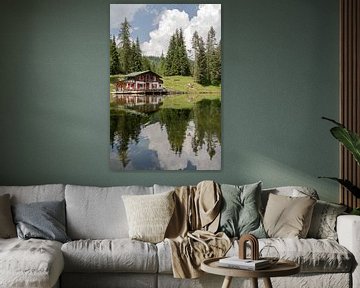
[[[195,154],[206,143],[210,159],[215,155],[215,148],[221,143],[221,102],[204,99],[195,104],[193,109],[195,135],[191,145]]]

